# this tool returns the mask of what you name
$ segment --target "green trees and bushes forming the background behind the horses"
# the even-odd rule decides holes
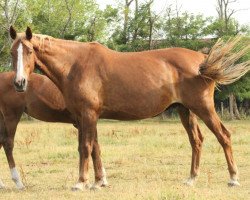
[[[225,9],[221,10],[224,14],[218,13],[214,18],[183,12],[174,4],[157,13],[152,9],[156,3],[156,0],[118,0],[118,5],[101,10],[95,0],[0,0],[0,71],[10,70],[11,24],[17,30],[31,26],[34,32],[58,38],[96,40],[118,51],[176,46],[197,51],[210,48],[218,37],[238,33],[250,36],[249,27],[241,26]],[[249,38],[245,41],[249,42]],[[243,59],[249,58],[248,54]],[[249,82],[248,74],[235,84],[221,87],[216,92],[216,101],[230,93],[239,100],[250,99]]]

